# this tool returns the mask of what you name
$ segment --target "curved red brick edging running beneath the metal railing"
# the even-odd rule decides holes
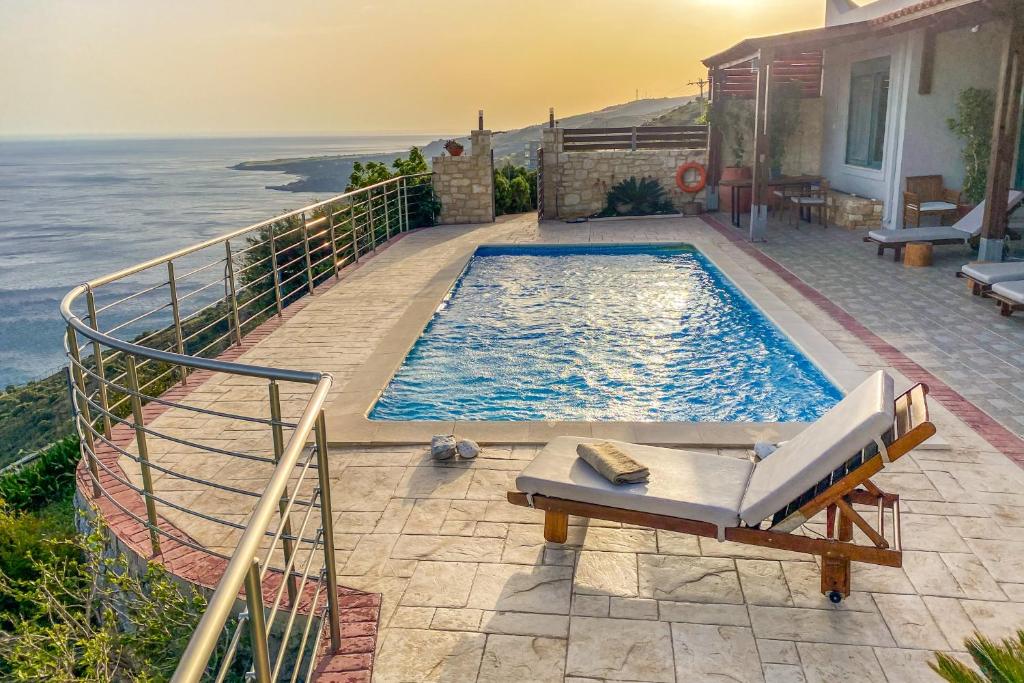
[[[407,234],[415,231],[417,230],[410,230],[392,238],[388,243],[382,245],[377,253],[387,250]],[[361,257],[358,263],[352,263],[342,268],[339,278],[329,278],[315,287],[314,295],[327,292],[338,283],[346,280],[374,256],[376,253]],[[217,357],[221,360],[237,360],[313,300],[315,300],[314,297],[309,296],[298,299],[285,308],[281,315],[271,316],[243,337],[241,345],[230,347]],[[188,376],[186,385],[178,384],[171,387],[161,394],[161,398],[180,401],[213,376],[214,373],[208,371],[197,371]],[[142,409],[143,420],[146,423],[152,422],[168,410],[170,407],[163,403],[147,403]],[[119,424],[113,428],[110,440],[118,447],[127,450],[134,439],[134,429]],[[118,542],[138,557],[146,561],[159,562],[173,575],[189,584],[214,590],[227,567],[227,560],[205,550],[189,547],[186,544],[195,546],[201,544],[163,517],[159,518],[158,526],[166,536],[160,536],[161,552],[155,555],[150,542],[150,529],[138,521],[138,519],[145,519],[145,503],[133,488],[118,481],[118,478],[128,479],[118,462],[120,454],[114,447],[97,441],[96,457],[101,463],[99,481],[105,495],[101,495],[99,498],[92,497],[92,479],[84,460],[79,462],[76,472],[78,493],[82,500],[95,506],[103,523]],[[265,604],[272,603],[283,581],[284,574],[281,571],[267,572],[263,582]],[[308,614],[312,606],[310,604],[312,591],[313,586],[306,586],[302,595],[299,596],[299,611],[303,614]],[[338,604],[341,612],[341,647],[337,652],[330,651],[330,630],[324,628],[316,646],[317,661],[315,663],[314,680],[328,683],[369,683],[373,674],[381,595],[339,587]],[[289,605],[287,593],[282,598],[282,605],[283,607]],[[326,627],[327,624],[325,623],[324,626]]]

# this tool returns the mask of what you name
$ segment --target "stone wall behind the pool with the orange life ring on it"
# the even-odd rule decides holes
[[[631,176],[654,178],[678,208],[693,196],[676,186],[676,169],[687,162],[708,163],[707,150],[601,150],[564,152],[563,130],[544,130],[544,218],[591,216],[605,206],[608,190]],[[705,193],[696,199],[703,201]]]

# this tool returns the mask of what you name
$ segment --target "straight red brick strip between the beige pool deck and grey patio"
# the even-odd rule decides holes
[[[759,263],[788,283],[807,300],[830,315],[833,319],[846,328],[848,332],[860,341],[864,342],[869,349],[882,356],[894,369],[901,372],[908,380],[927,384],[930,396],[945,405],[950,413],[963,420],[979,436],[988,441],[992,447],[1017,463],[1017,465],[1024,467],[1024,440],[1021,440],[1017,434],[996,422],[987,413],[965,398],[938,377],[911,360],[898,348],[858,323],[853,315],[846,312],[838,304],[798,278],[781,263],[753,246],[736,230],[711,216],[705,215],[701,218],[708,225],[725,236],[740,251],[757,259]]]

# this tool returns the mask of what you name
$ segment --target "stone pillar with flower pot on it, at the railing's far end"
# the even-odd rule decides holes
[[[489,223],[495,219],[495,176],[490,131],[474,130],[461,157],[434,157],[434,191],[441,203],[438,222]]]

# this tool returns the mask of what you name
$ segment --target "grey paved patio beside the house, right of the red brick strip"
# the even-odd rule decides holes
[[[955,273],[968,247],[935,249],[930,268],[907,268],[865,244],[864,230],[802,223],[769,227],[765,254],[953,387],[1015,434],[1024,434],[1024,316],[998,315]],[[1015,248],[1019,245],[1014,244]]]

